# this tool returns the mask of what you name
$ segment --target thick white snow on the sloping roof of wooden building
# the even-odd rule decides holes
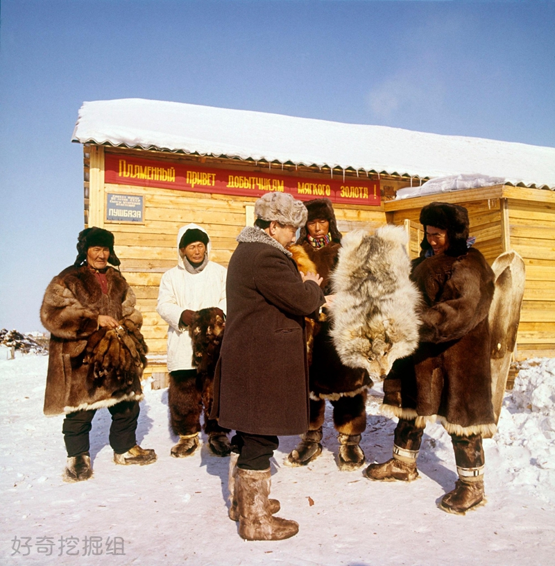
[[[479,173],[555,189],[555,148],[180,102],[85,102],[74,142],[433,178]]]

